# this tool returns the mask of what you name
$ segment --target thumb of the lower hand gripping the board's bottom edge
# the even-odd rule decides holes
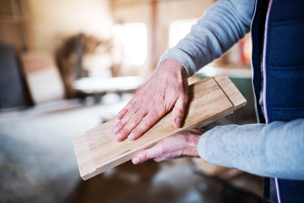
[[[161,148],[158,146],[151,147],[149,149],[144,149],[135,154],[132,158],[132,162],[134,164],[142,163],[149,159],[157,158],[161,155],[162,151]]]

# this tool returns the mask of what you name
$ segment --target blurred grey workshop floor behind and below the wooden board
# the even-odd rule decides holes
[[[86,107],[71,100],[0,113],[0,202],[261,202],[196,173],[186,158],[126,162],[83,181],[71,139],[124,104]]]

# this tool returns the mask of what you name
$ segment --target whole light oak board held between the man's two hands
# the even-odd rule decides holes
[[[81,177],[87,180],[124,163],[142,149],[156,145],[173,133],[199,128],[231,114],[246,104],[246,99],[224,74],[205,78],[189,86],[189,100],[181,128],[174,128],[171,111],[136,141],[115,142],[112,119],[72,140]]]

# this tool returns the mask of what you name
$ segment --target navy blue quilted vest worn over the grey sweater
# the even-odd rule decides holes
[[[266,119],[257,105],[260,123],[304,118],[304,1],[256,0],[251,35],[252,81],[257,101],[261,57],[265,59]],[[304,202],[304,181],[264,178],[263,198],[272,203]]]

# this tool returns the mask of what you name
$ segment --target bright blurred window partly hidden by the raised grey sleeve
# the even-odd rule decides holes
[[[191,26],[196,24],[198,19],[174,20],[169,25],[169,47],[174,47],[189,33]]]

